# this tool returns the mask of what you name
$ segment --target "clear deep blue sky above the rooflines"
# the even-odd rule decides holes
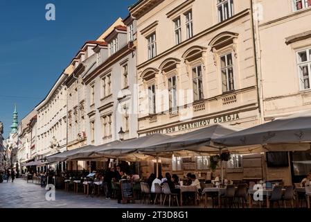
[[[0,121],[8,137],[14,104],[19,121],[44,99],[80,47],[96,40],[136,0],[0,1]],[[55,21],[46,20],[46,5]]]

